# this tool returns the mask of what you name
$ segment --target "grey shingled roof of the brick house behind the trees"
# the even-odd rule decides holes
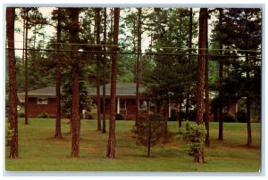
[[[110,96],[111,84],[106,85],[105,94]],[[139,86],[139,93],[145,94],[146,87]],[[96,87],[89,87],[88,94],[90,96],[96,96]],[[100,94],[103,94],[103,86],[100,86]],[[136,84],[135,83],[117,83],[116,84],[116,96],[128,96],[134,97],[136,95]],[[24,102],[25,92],[19,93],[18,98],[20,102]],[[55,87],[49,86],[44,88],[35,89],[28,92],[29,97],[50,97],[55,98]]]

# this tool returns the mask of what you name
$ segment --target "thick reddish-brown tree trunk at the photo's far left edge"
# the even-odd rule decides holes
[[[9,92],[8,92],[8,119],[10,127],[13,129],[13,137],[11,141],[11,158],[19,157],[18,150],[18,111],[17,111],[17,83],[16,83],[16,61],[14,52],[14,21],[15,21],[15,8],[6,8],[6,37],[8,45],[8,73],[9,73]]]

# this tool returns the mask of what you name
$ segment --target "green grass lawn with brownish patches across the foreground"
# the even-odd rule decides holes
[[[108,121],[107,121],[108,123]],[[8,158],[8,171],[195,171],[193,158],[184,148],[186,143],[175,138],[171,143],[152,148],[151,158],[146,148],[136,146],[131,138],[133,121],[116,121],[116,149],[114,160],[105,158],[107,134],[96,131],[96,120],[82,120],[80,158],[71,158],[69,120],[63,119],[63,139],[54,139],[54,119],[29,119],[29,125],[19,119],[18,160]],[[169,122],[176,133],[178,122]],[[260,168],[260,124],[253,123],[254,146],[247,148],[247,124],[225,123],[224,141],[217,140],[218,124],[210,124],[211,147],[205,148],[205,163],[198,164],[204,172],[257,172]],[[107,128],[108,129],[108,128]]]

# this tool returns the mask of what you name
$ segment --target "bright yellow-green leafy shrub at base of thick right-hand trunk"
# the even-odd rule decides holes
[[[197,125],[196,122],[187,121],[185,129],[180,127],[179,134],[184,141],[188,142],[188,155],[196,157],[204,153],[205,132],[204,125]]]

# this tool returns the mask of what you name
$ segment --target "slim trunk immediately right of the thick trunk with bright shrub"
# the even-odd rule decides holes
[[[208,84],[208,27],[207,20],[205,21],[205,146],[209,146],[209,84]]]

